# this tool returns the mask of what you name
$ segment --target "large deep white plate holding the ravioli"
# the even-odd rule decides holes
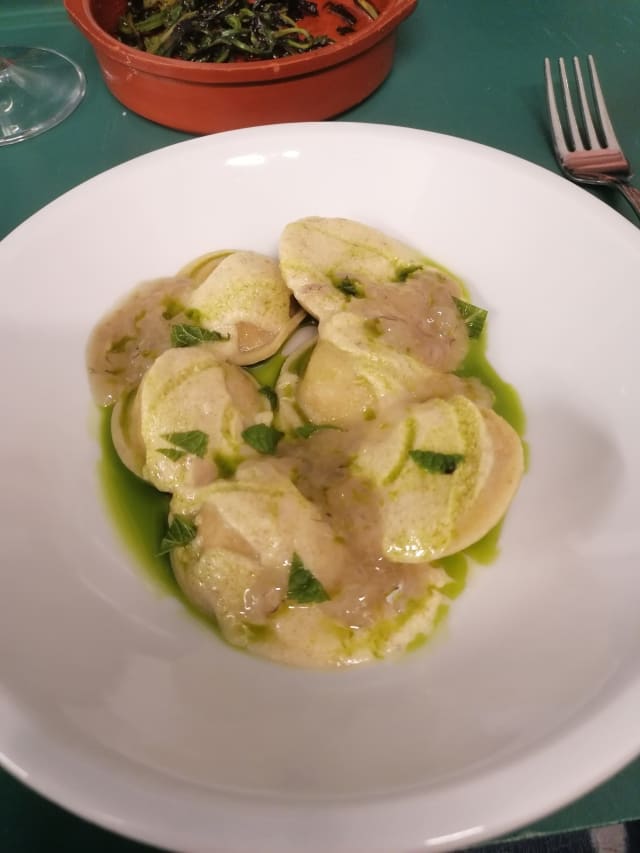
[[[466,279],[520,390],[531,468],[501,557],[439,639],[307,672],[163,596],[99,496],[84,345],[134,284],[297,217],[380,227]],[[182,851],[452,849],[532,821],[640,750],[640,232],[472,143],[255,128],[126,163],[0,246],[4,690],[28,785]]]

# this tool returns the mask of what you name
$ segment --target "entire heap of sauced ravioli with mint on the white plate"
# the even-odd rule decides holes
[[[113,444],[171,494],[160,551],[228,643],[340,667],[433,633],[440,561],[503,518],[524,470],[469,375],[485,314],[421,251],[307,217],[278,258],[201,255],[98,325]]]

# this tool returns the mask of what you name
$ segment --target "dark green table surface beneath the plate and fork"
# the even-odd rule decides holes
[[[0,237],[93,175],[189,138],[134,115],[109,94],[61,0],[0,0],[1,43],[66,53],[85,70],[87,94],[58,127],[0,149]],[[547,132],[543,58],[587,53],[598,60],[622,146],[640,164],[640,0],[420,0],[400,28],[390,77],[336,120],[465,137],[557,171]],[[457,191],[455,181],[451,191]],[[616,194],[594,192],[635,221]],[[640,760],[512,837],[638,818]],[[45,849],[150,850],[86,823],[0,773],[0,850]]]

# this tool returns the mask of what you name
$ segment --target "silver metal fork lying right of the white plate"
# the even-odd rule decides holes
[[[580,60],[577,56],[573,58],[573,67],[580,98],[580,108],[584,131],[586,133],[586,145],[584,135],[580,132],[576,113],[571,100],[569,79],[564,59],[558,60],[560,67],[560,80],[564,94],[564,103],[567,114],[567,127],[569,130],[570,145],[567,145],[565,133],[558,112],[556,96],[551,76],[551,62],[544,61],[544,72],[547,81],[547,103],[549,106],[549,117],[551,119],[551,130],[553,136],[553,147],[556,159],[563,172],[573,181],[580,184],[596,184],[600,186],[611,186],[620,190],[631,207],[640,216],[640,190],[632,187],[629,183],[632,172],[631,165],[624,156],[620,143],[607,111],[607,105],[602,94],[602,87],[598,79],[596,64],[593,56],[589,55],[589,73],[591,77],[591,88],[597,108],[596,122],[599,125],[599,133],[589,107],[587,93],[580,68]],[[601,144],[604,141],[604,145]]]

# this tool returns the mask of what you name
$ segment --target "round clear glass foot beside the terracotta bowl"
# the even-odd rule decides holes
[[[82,69],[58,51],[0,45],[0,146],[55,127],[85,90]]]

